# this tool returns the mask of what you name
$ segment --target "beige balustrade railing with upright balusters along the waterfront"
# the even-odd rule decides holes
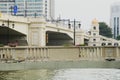
[[[120,47],[1,47],[0,62],[120,59]]]

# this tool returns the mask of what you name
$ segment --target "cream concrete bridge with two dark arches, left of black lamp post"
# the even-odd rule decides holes
[[[73,28],[48,23],[44,18],[24,18],[2,14],[0,43],[17,41],[20,46],[46,46],[73,43]]]

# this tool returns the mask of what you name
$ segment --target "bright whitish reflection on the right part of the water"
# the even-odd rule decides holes
[[[117,69],[68,69],[59,70],[53,80],[120,80]]]

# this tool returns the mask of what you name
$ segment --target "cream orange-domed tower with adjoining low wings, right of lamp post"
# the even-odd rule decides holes
[[[79,34],[79,35],[78,35]],[[89,33],[84,31],[77,32],[76,45],[86,44],[88,46],[119,46],[120,41],[99,35],[99,22],[94,19]],[[85,42],[87,40],[87,42]]]

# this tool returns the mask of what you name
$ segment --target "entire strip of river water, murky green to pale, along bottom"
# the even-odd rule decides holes
[[[120,80],[119,69],[40,69],[0,72],[0,80]]]

